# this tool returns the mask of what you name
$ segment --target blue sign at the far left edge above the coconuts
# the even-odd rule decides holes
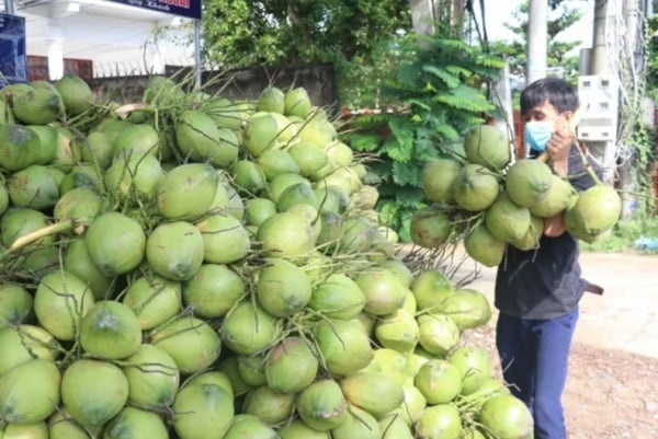
[[[0,13],[0,86],[27,82],[25,19]]]

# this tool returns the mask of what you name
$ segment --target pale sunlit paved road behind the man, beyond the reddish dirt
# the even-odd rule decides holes
[[[658,358],[658,255],[582,253],[580,265],[605,292],[582,299],[575,342]],[[483,268],[469,288],[492,298],[494,277]]]

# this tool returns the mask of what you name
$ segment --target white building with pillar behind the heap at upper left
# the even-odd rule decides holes
[[[30,79],[56,80],[67,70],[163,73],[167,65],[194,65],[190,19],[107,0],[4,0],[3,12],[12,10],[25,18]]]

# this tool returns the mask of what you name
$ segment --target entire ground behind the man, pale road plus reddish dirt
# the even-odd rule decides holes
[[[583,253],[587,293],[564,394],[569,439],[658,438],[658,255]],[[492,298],[494,268],[469,288]],[[495,354],[496,315],[469,335]]]

